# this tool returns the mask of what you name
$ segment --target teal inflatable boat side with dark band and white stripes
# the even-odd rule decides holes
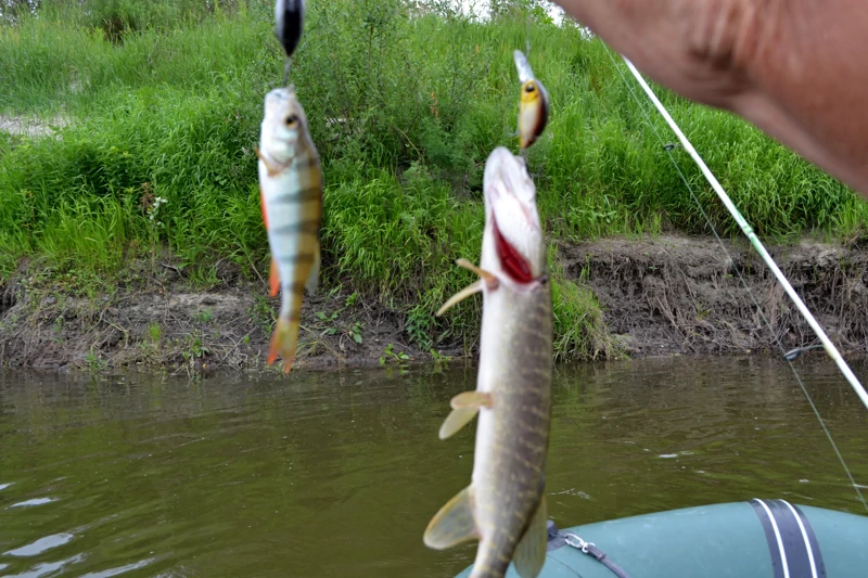
[[[866,578],[868,517],[754,499],[567,529],[549,522],[537,578],[567,577]],[[521,577],[510,565],[507,578]]]

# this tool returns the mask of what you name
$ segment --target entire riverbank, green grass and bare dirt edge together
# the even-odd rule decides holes
[[[254,146],[284,59],[271,2],[208,5],[44,0],[0,18],[3,364],[261,368],[277,301]],[[763,350],[750,295],[805,345],[753,254],[735,257],[749,294],[713,241],[689,236],[741,233],[616,55],[522,5],[490,18],[448,2],[309,7],[291,80],[323,166],[322,288],[298,367],[473,356],[480,299],[433,312],[473,281],[455,262],[480,254],[487,156],[515,150],[513,50],[528,41],[552,99],[527,166],[557,361]],[[868,204],[840,182],[738,117],[660,95],[764,240],[866,236]],[[839,305],[841,292],[861,303],[856,249],[776,251],[860,347],[857,309]]]

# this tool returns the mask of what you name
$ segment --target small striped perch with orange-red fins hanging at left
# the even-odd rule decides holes
[[[304,291],[319,284],[319,230],[322,220],[322,171],[307,129],[307,117],[293,87],[265,98],[259,147],[263,221],[271,249],[271,296],[281,293],[280,314],[271,336],[268,364],[277,356],[289,373],[298,344]]]

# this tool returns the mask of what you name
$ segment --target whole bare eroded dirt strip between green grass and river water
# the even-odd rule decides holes
[[[677,235],[558,245],[564,274],[593,290],[624,354],[775,351],[754,300],[784,347],[816,343],[755,252],[725,243],[726,252],[714,239]],[[868,253],[807,240],[769,252],[832,341],[847,351],[868,350]],[[229,271],[220,287],[197,293],[164,269],[141,286],[74,297],[35,284],[23,265],[0,285],[0,365],[263,368],[273,304],[265,287]],[[413,346],[401,314],[347,294],[321,290],[306,300],[303,319],[297,368],[376,364],[384,356],[395,363],[401,352],[435,359]],[[385,354],[390,344],[395,356]],[[435,349],[451,357],[473,352],[455,337]]]

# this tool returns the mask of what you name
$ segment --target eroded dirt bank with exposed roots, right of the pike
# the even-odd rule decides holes
[[[560,255],[569,278],[587,279],[609,330],[631,355],[778,352],[776,339],[787,349],[819,343],[748,242],[724,245],[665,235],[562,245]],[[868,253],[812,240],[766,248],[832,342],[865,351]]]

